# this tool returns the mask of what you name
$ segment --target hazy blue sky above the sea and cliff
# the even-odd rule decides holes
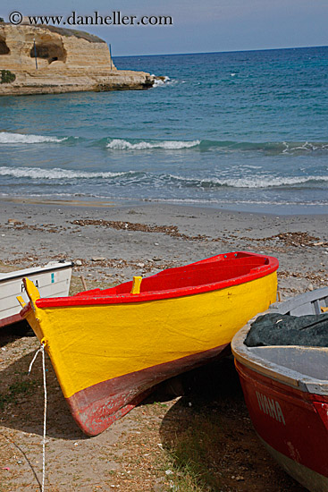
[[[71,25],[112,45],[114,56],[242,51],[328,45],[328,0],[14,0],[22,15],[171,16],[172,25]],[[137,20],[137,21],[138,21]],[[72,21],[72,19],[71,19]]]

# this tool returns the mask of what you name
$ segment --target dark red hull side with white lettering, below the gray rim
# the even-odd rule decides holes
[[[322,410],[328,396],[284,385],[239,361],[235,364],[257,434],[275,451],[328,477],[328,415]]]

